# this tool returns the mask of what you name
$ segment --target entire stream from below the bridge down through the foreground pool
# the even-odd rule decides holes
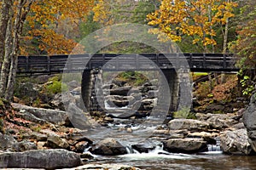
[[[112,108],[111,108],[112,109]],[[143,126],[140,123],[131,123],[129,120],[115,120],[118,123],[109,123],[108,135],[106,132],[97,133],[94,136],[96,139],[104,139],[112,137],[119,140],[119,142],[126,146],[128,154],[121,156],[94,156],[94,159],[88,163],[120,163],[139,167],[147,170],[212,170],[212,169],[225,169],[225,170],[256,170],[256,156],[227,156],[224,155],[220,148],[220,141],[216,144],[208,144],[208,151],[197,153],[193,155],[170,153],[163,150],[163,144],[154,140],[156,147],[154,150],[149,150],[148,153],[140,153],[134,150],[131,145],[138,144],[143,141],[147,135],[143,132],[153,132],[155,129],[154,119],[150,119],[152,123]],[[157,121],[156,121],[157,122]],[[148,125],[152,126],[148,126]],[[116,133],[120,127],[131,127],[133,133]],[[139,131],[137,132],[137,129]],[[84,150],[88,153],[89,149]]]

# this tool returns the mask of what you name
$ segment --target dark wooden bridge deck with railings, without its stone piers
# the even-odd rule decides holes
[[[171,61],[171,62],[170,62]],[[186,63],[190,71],[238,71],[233,54],[73,54],[19,56],[17,73],[24,76],[102,68],[109,71],[174,69]],[[106,66],[107,65],[107,66]],[[180,65],[184,66],[184,65]]]

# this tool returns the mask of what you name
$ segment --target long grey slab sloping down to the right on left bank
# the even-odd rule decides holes
[[[56,111],[56,110],[47,110],[41,108],[30,107],[20,104],[12,104],[15,109],[25,110],[31,113],[33,116],[37,116],[40,119],[43,119],[47,122],[51,122],[58,125],[69,125],[69,119],[67,112],[65,111]]]

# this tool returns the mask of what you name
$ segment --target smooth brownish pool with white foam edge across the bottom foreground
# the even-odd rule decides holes
[[[121,163],[150,170],[253,170],[256,156],[227,156],[219,151],[196,155],[172,154],[156,149],[149,153],[131,153],[122,156],[96,156],[90,163]]]

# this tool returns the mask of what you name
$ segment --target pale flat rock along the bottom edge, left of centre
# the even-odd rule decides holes
[[[140,170],[138,167],[132,167],[129,165],[122,164],[86,164],[80,167],[71,168],[70,170],[84,170],[84,169],[109,169],[109,170]]]

